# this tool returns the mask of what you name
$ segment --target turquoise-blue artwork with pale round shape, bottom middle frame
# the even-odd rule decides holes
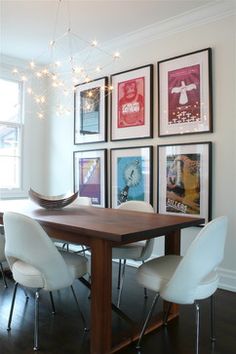
[[[143,161],[141,156],[119,157],[117,160],[117,203],[144,200]]]

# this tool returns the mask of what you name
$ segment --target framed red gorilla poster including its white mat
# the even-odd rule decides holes
[[[153,65],[111,76],[111,140],[153,135]]]

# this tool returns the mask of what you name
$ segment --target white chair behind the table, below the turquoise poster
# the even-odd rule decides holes
[[[154,209],[151,204],[144,201],[131,200],[119,205],[120,210],[132,210],[146,213],[154,213]],[[127,259],[132,259],[134,261],[141,261],[144,263],[148,258],[150,258],[155,239],[150,239],[147,241],[133,242],[127,245],[122,245],[120,247],[112,248],[112,258],[119,259],[119,272],[118,272],[118,301],[117,307],[120,307],[121,295],[124,286],[125,278],[125,266]],[[123,261],[123,267],[122,267]],[[121,269],[122,268],[122,269]],[[146,288],[144,288],[145,296],[147,296]]]

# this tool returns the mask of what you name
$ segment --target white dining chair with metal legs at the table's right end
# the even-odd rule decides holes
[[[156,292],[136,347],[139,353],[141,340],[159,297],[170,304],[195,305],[196,354],[199,354],[199,300],[211,298],[211,340],[215,340],[213,294],[218,287],[217,267],[223,260],[226,233],[227,217],[218,217],[200,231],[184,257],[167,255],[147,261],[139,267],[138,282]],[[167,317],[168,312],[165,324]]]

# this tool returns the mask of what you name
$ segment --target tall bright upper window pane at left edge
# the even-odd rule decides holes
[[[0,79],[0,121],[20,122],[20,83]]]

